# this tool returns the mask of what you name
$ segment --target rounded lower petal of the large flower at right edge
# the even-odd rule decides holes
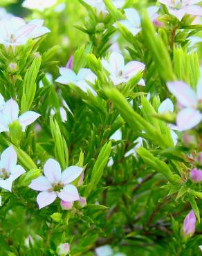
[[[202,114],[195,109],[186,108],[178,112],[176,124],[178,129],[185,131],[199,125],[202,120]]]

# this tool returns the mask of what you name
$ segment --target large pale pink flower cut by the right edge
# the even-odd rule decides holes
[[[202,100],[202,84],[198,84],[196,92],[181,81],[168,82],[167,88],[184,107],[176,117],[178,129],[185,131],[199,125],[202,120],[202,113],[198,109]]]

